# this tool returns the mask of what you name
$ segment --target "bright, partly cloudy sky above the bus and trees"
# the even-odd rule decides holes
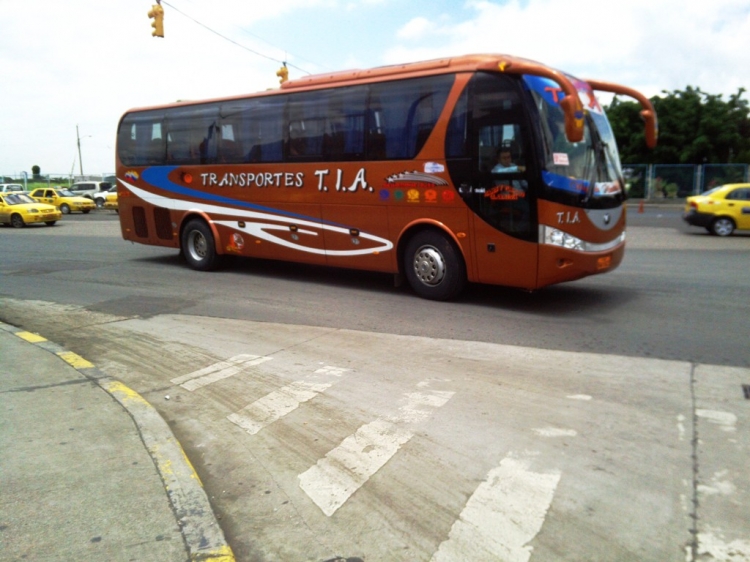
[[[502,53],[648,97],[750,89],[747,0],[163,0],[164,38],[155,3],[0,0],[0,177],[113,173],[128,109],[277,88],[282,62]]]

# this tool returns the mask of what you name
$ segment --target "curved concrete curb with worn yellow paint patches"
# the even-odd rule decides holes
[[[0,322],[0,329],[58,356],[99,385],[130,415],[161,477],[191,562],[235,561],[198,474],[156,408],[136,391],[102,373],[93,363],[45,337],[4,322]]]

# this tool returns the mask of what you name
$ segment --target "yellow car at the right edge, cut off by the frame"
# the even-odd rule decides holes
[[[729,236],[735,229],[750,229],[750,183],[715,187],[685,199],[682,218],[711,234]]]

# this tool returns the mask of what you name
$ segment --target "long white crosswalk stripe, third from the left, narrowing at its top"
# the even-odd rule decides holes
[[[436,390],[406,394],[398,415],[363,425],[300,474],[300,488],[330,517],[414,436],[403,426],[426,420],[453,394]]]

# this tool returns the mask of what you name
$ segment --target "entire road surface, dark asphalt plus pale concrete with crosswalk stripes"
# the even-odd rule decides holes
[[[608,275],[433,303],[71,218],[0,230],[0,319],[155,405],[239,561],[750,559],[750,236],[646,209]]]

